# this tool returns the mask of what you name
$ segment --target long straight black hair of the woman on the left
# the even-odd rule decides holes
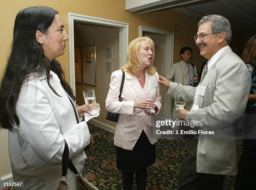
[[[15,18],[13,28],[13,44],[5,67],[0,86],[0,124],[2,128],[12,129],[19,125],[16,104],[23,82],[31,73],[46,73],[51,90],[57,92],[49,82],[50,70],[58,75],[61,85],[70,97],[75,100],[71,87],[64,80],[64,72],[57,60],[46,59],[41,44],[36,41],[36,30],[47,34],[47,30],[58,12],[50,7],[28,7],[21,10]]]

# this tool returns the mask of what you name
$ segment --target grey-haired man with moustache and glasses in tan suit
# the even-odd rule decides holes
[[[159,82],[174,96],[184,92],[192,109],[179,110],[185,120],[203,120],[202,130],[235,130],[225,127],[224,122],[233,123],[232,115],[239,118],[246,108],[250,92],[250,76],[244,62],[228,46],[232,36],[229,21],[220,15],[204,16],[198,23],[196,45],[207,64],[197,87],[169,82],[159,76]],[[212,139],[199,135],[190,140],[184,160],[178,190],[223,190],[225,175],[237,174],[237,155],[241,140]]]

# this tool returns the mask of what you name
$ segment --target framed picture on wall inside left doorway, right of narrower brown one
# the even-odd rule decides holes
[[[96,45],[83,46],[82,83],[96,86],[96,76]]]

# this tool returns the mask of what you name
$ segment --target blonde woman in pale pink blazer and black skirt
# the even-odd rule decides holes
[[[120,114],[114,144],[117,168],[123,172],[124,190],[132,189],[134,171],[138,190],[145,190],[146,168],[156,160],[157,138],[152,138],[151,117],[152,112],[157,114],[161,109],[161,96],[153,60],[154,42],[150,37],[138,37],[129,43],[126,64],[111,75],[106,109]],[[123,72],[125,80],[120,102],[118,95]]]

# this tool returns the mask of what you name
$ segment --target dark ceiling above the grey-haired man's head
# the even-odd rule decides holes
[[[164,2],[161,0],[159,2]],[[218,14],[228,18],[232,29],[247,34],[256,34],[256,0],[166,0],[133,13],[149,13],[159,10],[174,10],[200,19],[203,15]]]

